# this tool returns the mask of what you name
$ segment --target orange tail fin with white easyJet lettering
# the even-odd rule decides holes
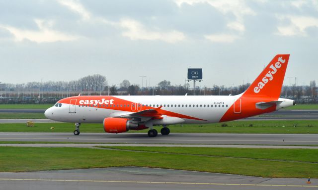
[[[244,96],[279,98],[289,54],[278,54],[244,92]]]

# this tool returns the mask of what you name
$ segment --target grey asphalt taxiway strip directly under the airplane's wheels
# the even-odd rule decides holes
[[[93,142],[93,143],[169,143],[169,144],[256,144],[318,145],[318,134],[203,134],[171,133],[150,138],[146,133],[0,133],[0,141]]]

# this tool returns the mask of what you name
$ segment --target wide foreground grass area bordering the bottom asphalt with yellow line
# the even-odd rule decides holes
[[[117,147],[114,147],[117,148]],[[143,147],[140,147],[143,148]],[[45,148],[45,147],[0,147],[0,171],[1,172],[26,172],[42,170],[62,170],[79,168],[102,168],[116,166],[140,166],[156,167],[204,172],[216,172],[227,174],[240,174],[261,177],[280,178],[318,178],[318,163],[308,157],[283,161],[283,160],[261,160],[253,155],[255,149],[240,152],[242,148],[225,148],[217,151],[218,157],[206,155],[190,155],[191,149],[180,149],[188,155],[173,153],[162,153],[165,148],[156,148],[161,151],[134,152],[109,149],[92,148]],[[207,148],[209,149],[209,148]],[[282,150],[282,149],[280,149]],[[281,152],[272,152],[262,149],[265,157],[284,158],[284,155],[293,155],[301,149],[286,149]],[[213,152],[202,150],[203,152]],[[190,153],[190,154],[189,154]],[[196,152],[200,153],[200,152]],[[249,154],[251,153],[251,155]],[[317,150],[308,150],[310,155],[317,155]],[[233,157],[237,156],[237,157]],[[246,158],[248,157],[248,158]],[[313,156],[312,156],[313,157]],[[314,161],[315,163],[309,163]]]

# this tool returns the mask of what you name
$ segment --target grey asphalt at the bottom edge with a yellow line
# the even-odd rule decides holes
[[[61,171],[0,172],[2,190],[302,190],[318,179],[261,178],[241,175],[115,167]]]

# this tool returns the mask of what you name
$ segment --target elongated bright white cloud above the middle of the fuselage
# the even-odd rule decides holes
[[[176,43],[185,39],[182,32],[175,30],[168,32],[151,31],[140,22],[131,19],[121,20],[120,26],[126,29],[126,31],[122,32],[122,35],[131,40],[161,40],[167,43]]]

